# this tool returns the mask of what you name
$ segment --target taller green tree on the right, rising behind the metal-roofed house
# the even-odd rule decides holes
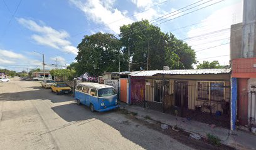
[[[161,32],[161,29],[147,20],[134,22],[120,27],[120,41],[125,56],[132,58],[132,70],[139,67],[149,69],[191,69],[196,63],[196,54],[188,44],[178,40],[173,34]],[[148,56],[148,57],[147,57]]]

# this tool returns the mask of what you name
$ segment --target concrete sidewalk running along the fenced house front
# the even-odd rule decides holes
[[[161,123],[165,123],[170,126],[175,126],[177,124],[177,126],[184,129],[184,131],[200,134],[204,138],[206,138],[207,133],[210,133],[214,136],[218,136],[218,138],[220,138],[222,141],[221,143],[231,146],[232,148],[256,149],[256,135],[252,133],[247,133],[244,131],[232,131],[232,134],[229,136],[229,129],[219,127],[211,128],[209,124],[200,123],[193,120],[188,121],[186,118],[177,117],[176,119],[176,116],[171,114],[144,109],[139,106],[131,106],[125,103],[121,103],[120,108],[125,108],[127,111],[132,111],[142,117],[149,116],[153,120],[161,121]]]

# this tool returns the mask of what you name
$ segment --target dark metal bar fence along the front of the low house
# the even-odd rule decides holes
[[[208,124],[230,126],[230,83],[131,78],[131,103]]]

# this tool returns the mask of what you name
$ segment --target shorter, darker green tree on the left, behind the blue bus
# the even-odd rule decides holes
[[[109,42],[106,42],[106,39]],[[91,36],[85,36],[77,48],[78,55],[75,58],[77,64],[72,65],[77,74],[81,75],[87,72],[98,76],[104,71],[119,70],[119,56],[120,59],[123,59],[122,53],[120,53],[121,42],[113,34],[98,32]]]

